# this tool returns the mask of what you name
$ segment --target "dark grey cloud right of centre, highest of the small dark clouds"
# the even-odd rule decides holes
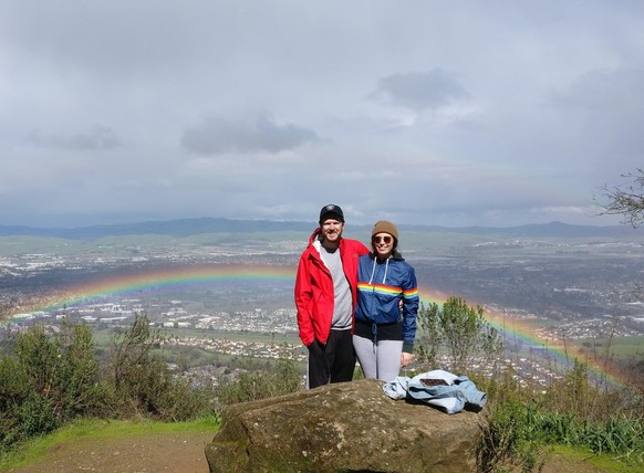
[[[388,105],[423,112],[467,101],[470,94],[451,74],[435,69],[383,77],[370,97]]]

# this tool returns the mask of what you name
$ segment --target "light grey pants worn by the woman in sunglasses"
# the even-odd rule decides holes
[[[371,338],[354,335],[353,348],[365,378],[389,382],[398,376],[403,340],[378,340],[374,345]]]

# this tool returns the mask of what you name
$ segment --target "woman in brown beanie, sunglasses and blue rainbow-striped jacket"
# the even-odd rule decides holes
[[[371,232],[370,254],[360,256],[353,346],[365,378],[393,381],[412,361],[418,287],[416,273],[398,252],[398,229],[381,220]]]

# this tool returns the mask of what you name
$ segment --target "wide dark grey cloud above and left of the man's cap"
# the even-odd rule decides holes
[[[318,140],[318,135],[293,124],[280,125],[272,117],[260,115],[255,120],[206,118],[200,125],[186,129],[181,145],[198,155],[221,153],[280,153]]]

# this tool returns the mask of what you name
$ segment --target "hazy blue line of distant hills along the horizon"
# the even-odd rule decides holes
[[[274,220],[230,220],[221,218],[178,219],[167,221],[147,221],[110,225],[91,225],[77,228],[33,228],[0,225],[0,236],[29,235],[50,236],[70,240],[92,241],[104,236],[159,234],[170,236],[189,236],[204,233],[256,233],[256,232],[304,232],[309,234],[315,227],[313,222],[274,221]],[[368,231],[371,225],[352,225]],[[401,230],[418,232],[463,233],[475,235],[505,235],[509,238],[635,238],[644,239],[644,232],[627,225],[593,227],[571,225],[562,222],[528,224],[508,228],[495,227],[436,227],[399,225]]]

